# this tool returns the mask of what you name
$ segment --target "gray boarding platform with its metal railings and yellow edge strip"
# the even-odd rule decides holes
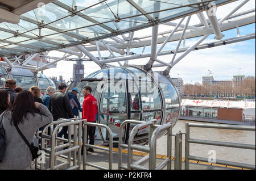
[[[84,127],[82,123],[84,121]],[[137,124],[130,133],[129,140],[123,142],[122,131],[126,124]],[[86,135],[86,127],[95,126],[105,128],[109,133],[109,146],[102,146],[100,140],[94,145],[82,144],[82,129]],[[68,139],[57,137],[57,132],[68,126]],[[223,161],[209,158],[196,157],[189,153],[189,144],[218,145],[241,149],[255,150],[255,145],[235,144],[230,142],[196,140],[189,136],[191,127],[197,128],[220,128],[254,131],[254,126],[243,125],[216,125],[202,123],[185,123],[186,132],[172,134],[172,125],[156,124],[156,120],[135,121],[126,120],[119,129],[118,148],[113,148],[113,135],[111,129],[105,124],[89,123],[81,119],[58,120],[46,125],[43,131],[38,131],[36,137],[41,140],[42,154],[31,163],[31,169],[36,170],[232,170],[232,169],[255,169],[255,165]],[[139,129],[148,127],[148,145],[134,144],[134,137]],[[73,130],[73,132],[72,132]],[[72,134],[73,133],[73,136]],[[167,155],[156,154],[156,140],[160,134],[167,135]],[[185,140],[182,140],[185,134]],[[121,136],[120,136],[121,135]],[[175,153],[172,153],[172,141],[175,142]],[[185,141],[185,150],[182,150],[182,142]],[[81,148],[84,146],[83,155]],[[94,152],[87,148],[93,148]],[[182,153],[185,151],[185,158]]]

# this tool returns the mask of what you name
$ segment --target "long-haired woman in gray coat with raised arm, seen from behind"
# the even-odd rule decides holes
[[[52,122],[51,112],[43,104],[34,102],[30,91],[23,90],[16,96],[13,106],[2,113],[1,119],[6,146],[0,169],[29,169],[32,155],[15,125],[18,125],[28,142],[32,142],[36,130]]]

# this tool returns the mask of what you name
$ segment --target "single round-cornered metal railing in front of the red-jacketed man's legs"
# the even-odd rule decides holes
[[[106,131],[109,132],[109,148],[103,148],[101,146],[95,146],[95,145],[90,145],[87,144],[87,139],[86,139],[86,135],[87,135],[87,126],[91,126],[91,127],[102,127],[102,128],[106,128]],[[86,165],[91,166],[91,167],[95,167],[97,169],[102,169],[102,170],[112,170],[112,163],[113,163],[113,133],[111,131],[111,129],[104,124],[99,124],[99,123],[90,123],[85,121],[84,122],[84,140],[83,142],[86,144],[83,144],[84,146],[84,160],[83,160],[83,169],[86,169]],[[104,151],[109,151],[109,168],[105,168],[102,166],[98,166],[98,165],[94,165],[92,163],[89,163],[86,161],[86,150],[87,148],[95,148],[95,149],[100,149],[100,150],[104,150]]]

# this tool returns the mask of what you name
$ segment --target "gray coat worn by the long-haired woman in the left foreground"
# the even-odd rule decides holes
[[[43,104],[40,104],[38,109],[39,113],[27,113],[27,119],[23,118],[23,124],[18,124],[20,131],[27,138],[28,142],[32,142],[32,138],[35,136],[35,132],[38,128],[51,123],[53,117],[48,108]],[[1,169],[27,169],[30,167],[32,155],[30,149],[20,137],[14,124],[10,124],[11,112],[2,113],[0,120],[3,119],[3,128],[5,129],[6,136],[6,148],[3,156],[3,162],[0,163]]]

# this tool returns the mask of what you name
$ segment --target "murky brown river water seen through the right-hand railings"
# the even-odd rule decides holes
[[[176,134],[179,131],[185,133],[186,122],[200,123],[198,121],[178,120],[175,127],[172,128],[172,134]],[[192,127],[190,128],[190,138],[255,145],[254,131]],[[167,155],[167,136],[162,136],[158,138],[158,140],[156,141],[156,146],[156,154]],[[189,149],[189,155],[193,156],[209,158],[212,157],[214,153],[216,155],[216,159],[255,165],[255,150],[201,144],[190,144]],[[174,137],[172,137],[172,155],[174,155]],[[182,138],[182,157],[185,157],[184,134]]]

